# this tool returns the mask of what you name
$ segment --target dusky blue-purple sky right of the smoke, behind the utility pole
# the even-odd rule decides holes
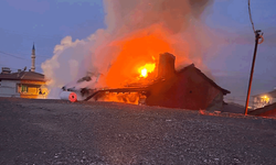
[[[276,1],[251,0],[255,29],[264,32],[265,42],[258,45],[252,95],[276,87]],[[244,105],[254,51],[254,34],[248,18],[247,0],[215,1],[206,24],[220,33],[226,44],[212,58],[205,57],[216,81],[230,89],[229,98]],[[211,55],[210,55],[211,56]]]

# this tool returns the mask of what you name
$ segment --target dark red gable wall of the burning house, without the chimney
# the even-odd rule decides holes
[[[205,110],[220,92],[217,88],[199,75],[194,67],[191,67],[177,73],[170,79],[150,86],[146,103],[149,106]],[[216,103],[222,103],[222,100]]]

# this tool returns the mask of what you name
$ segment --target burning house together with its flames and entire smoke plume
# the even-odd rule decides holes
[[[107,28],[81,41],[64,37],[42,69],[52,87],[65,85],[60,97],[66,100],[219,110],[230,91],[194,65],[174,68],[201,64],[203,52],[220,42],[210,37],[202,22],[211,4],[211,0],[106,1]],[[178,55],[177,63],[171,54],[159,56],[164,52]],[[103,76],[87,78],[87,72]]]

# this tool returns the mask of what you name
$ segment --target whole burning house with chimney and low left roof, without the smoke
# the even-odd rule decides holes
[[[108,100],[138,103],[147,106],[161,106],[190,110],[221,110],[223,96],[230,94],[213,80],[208,78],[193,64],[180,70],[174,69],[176,57],[172,54],[160,54],[157,64],[157,77],[148,84],[132,84],[124,88],[87,89],[79,88],[84,100]],[[147,72],[141,74],[148,74]],[[153,74],[155,75],[155,74]],[[71,88],[71,91],[74,88]],[[110,95],[115,95],[113,99]],[[70,92],[68,96],[70,97]]]

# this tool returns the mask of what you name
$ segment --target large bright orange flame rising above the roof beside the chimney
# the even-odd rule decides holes
[[[137,80],[137,77],[149,78],[149,73],[156,67],[152,59],[158,62],[159,54],[172,52],[171,45],[166,37],[162,37],[161,32],[150,34],[146,32],[137,32],[120,42],[113,43],[120,48],[105,77],[108,87],[124,87]]]

